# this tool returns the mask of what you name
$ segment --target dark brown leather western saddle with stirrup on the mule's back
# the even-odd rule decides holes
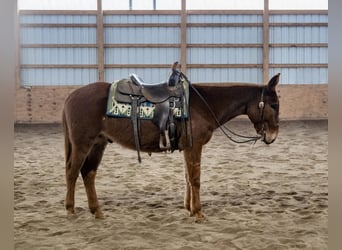
[[[172,74],[166,82],[146,83],[138,75],[131,74],[129,79],[122,79],[117,83],[115,99],[118,102],[131,105],[131,120],[139,163],[141,162],[139,106],[143,102],[148,101],[155,106],[152,122],[160,130],[160,149],[170,150],[171,152],[178,149],[173,111],[176,107],[180,108],[182,120],[184,120],[185,93],[181,79],[182,73],[176,70],[177,64],[178,62],[173,64]]]

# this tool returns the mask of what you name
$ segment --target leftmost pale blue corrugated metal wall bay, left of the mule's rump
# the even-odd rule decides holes
[[[97,80],[96,15],[22,14],[20,24],[21,85]]]

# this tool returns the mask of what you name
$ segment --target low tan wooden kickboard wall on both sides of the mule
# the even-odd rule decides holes
[[[80,86],[17,88],[16,123],[61,123],[66,97]],[[328,119],[327,84],[280,84],[281,120]]]

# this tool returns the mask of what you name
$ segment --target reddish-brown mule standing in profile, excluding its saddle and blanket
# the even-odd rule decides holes
[[[173,70],[173,79],[182,73]],[[266,144],[274,142],[279,129],[277,74],[266,85],[234,84],[191,85],[189,91],[191,143],[179,129],[178,147],[185,159],[184,206],[197,220],[204,218],[200,203],[201,152],[215,129],[238,115],[247,115]],[[184,75],[183,75],[184,76]],[[177,78],[178,77],[178,78]],[[83,86],[65,101],[63,127],[65,132],[66,183],[65,207],[73,215],[75,183],[81,172],[91,213],[103,217],[96,190],[96,170],[108,142],[136,149],[130,119],[106,116],[109,83],[96,82]],[[181,127],[179,121],[175,121]],[[140,123],[140,147],[143,152],[160,152],[160,131],[150,120]]]

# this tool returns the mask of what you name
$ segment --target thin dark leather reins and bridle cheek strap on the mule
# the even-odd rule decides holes
[[[183,74],[184,75],[184,74]],[[257,140],[261,139],[262,136],[245,136],[245,135],[240,135],[238,133],[233,132],[231,129],[227,128],[225,125],[221,124],[217,118],[217,116],[215,115],[214,111],[211,109],[211,107],[209,106],[208,102],[204,99],[204,97],[201,95],[201,93],[198,92],[198,90],[196,88],[194,88],[191,84],[190,84],[191,88],[195,91],[195,93],[199,96],[199,98],[203,101],[203,103],[207,106],[210,114],[213,116],[215,122],[217,123],[217,125],[219,126],[219,128],[221,129],[221,131],[223,132],[223,134],[232,142],[235,143],[247,143],[247,142],[251,142],[254,141],[254,143],[257,142]],[[262,89],[261,92],[261,98],[260,98],[260,102],[259,102],[259,109],[260,109],[260,117],[261,117],[261,121],[262,121],[262,132],[264,133],[264,88]],[[228,132],[230,132],[231,134],[246,139],[243,141],[238,141],[235,140],[233,137],[231,137],[225,130],[227,130]]]

